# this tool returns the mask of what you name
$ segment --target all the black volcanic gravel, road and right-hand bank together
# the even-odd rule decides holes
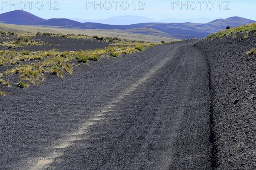
[[[253,33],[169,43],[11,87],[0,169],[254,170],[255,44]]]

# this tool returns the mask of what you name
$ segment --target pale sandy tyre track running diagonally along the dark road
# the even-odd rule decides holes
[[[175,50],[177,47],[175,48]],[[155,72],[157,72],[158,69],[160,69],[167,61],[169,61],[172,57],[166,58],[163,61],[160,61],[160,63],[157,66],[154,66],[152,69],[148,71],[142,78],[139,78],[137,82],[134,84],[131,84],[127,89],[125,89],[120,95],[118,95],[116,98],[113,99],[109,104],[106,104],[106,106],[96,112],[93,116],[91,116],[87,121],[85,121],[81,127],[78,130],[75,130],[74,132],[70,134],[66,134],[65,138],[62,138],[58,141],[57,144],[55,144],[51,148],[47,148],[44,153],[48,153],[46,156],[40,156],[37,158],[33,158],[32,160],[26,160],[26,164],[29,166],[29,170],[41,170],[46,169],[55,159],[57,158],[58,161],[61,161],[60,158],[63,156],[64,152],[63,150],[65,148],[71,147],[75,141],[79,140],[85,140],[86,137],[81,138],[80,135],[86,135],[88,132],[88,128],[90,126],[93,126],[94,124],[97,124],[99,121],[104,121],[105,116],[109,112],[113,112],[113,108],[116,106],[116,104],[119,104],[120,100],[125,98],[125,96],[131,95],[131,93],[140,85],[145,83],[145,81],[148,80]]]

